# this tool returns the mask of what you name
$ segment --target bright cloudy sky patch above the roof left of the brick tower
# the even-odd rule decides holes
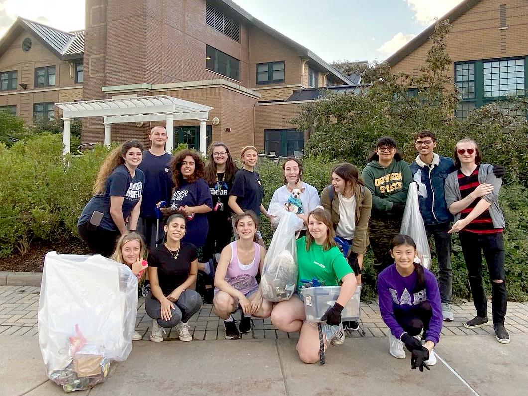
[[[18,16],[67,32],[80,30],[84,29],[84,0],[0,0],[0,37]]]

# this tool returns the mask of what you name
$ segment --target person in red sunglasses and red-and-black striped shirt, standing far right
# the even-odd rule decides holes
[[[493,173],[493,165],[482,164],[477,144],[472,139],[460,140],[455,146],[457,171],[447,176],[446,203],[455,215],[448,233],[458,232],[464,253],[469,285],[477,316],[464,323],[466,328],[488,324],[487,300],[482,284],[482,254],[486,260],[492,285],[492,313],[495,338],[510,342],[504,328],[506,284],[502,232],[504,216],[498,205],[502,179]]]

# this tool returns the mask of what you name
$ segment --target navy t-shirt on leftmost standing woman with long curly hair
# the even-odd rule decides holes
[[[92,196],[90,201],[84,206],[77,225],[90,221],[93,211],[98,211],[103,213],[99,227],[105,230],[117,231],[116,224],[110,215],[110,196],[124,197],[121,211],[123,219],[126,220],[134,206],[141,199],[144,185],[145,175],[141,169],[136,169],[136,174],[132,177],[125,165],[119,165],[108,176],[105,193]]]

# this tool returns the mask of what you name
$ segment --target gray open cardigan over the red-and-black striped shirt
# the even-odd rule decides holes
[[[458,170],[450,173],[446,178],[445,183],[445,195],[447,207],[451,206],[452,203],[460,201],[462,196],[460,195],[460,188],[458,185]],[[482,199],[485,199],[491,205],[488,208],[489,215],[492,218],[493,227],[504,228],[504,216],[502,215],[501,208],[498,206],[498,192],[501,189],[502,179],[495,177],[493,174],[493,165],[480,164],[478,169],[478,182],[480,184],[492,184],[494,187],[493,192],[484,195]],[[455,214],[455,221],[460,220],[460,213]]]

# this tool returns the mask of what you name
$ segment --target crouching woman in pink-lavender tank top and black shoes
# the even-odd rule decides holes
[[[213,312],[224,319],[225,338],[235,340],[251,331],[251,316],[267,318],[273,304],[263,300],[255,278],[262,270],[266,248],[255,242],[257,216],[245,211],[234,218],[238,239],[222,249],[214,275]],[[232,313],[240,307],[240,324]]]

